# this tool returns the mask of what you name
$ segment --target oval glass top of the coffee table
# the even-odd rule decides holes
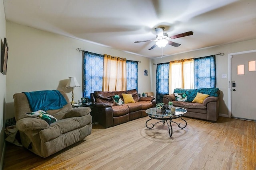
[[[171,112],[171,110],[166,109],[166,110],[162,110],[161,112],[157,112],[156,111],[156,107],[150,108],[150,109],[146,109],[146,113],[148,113],[149,115],[154,115],[154,116],[178,116],[178,115],[183,115],[184,113],[187,113],[187,110],[181,107],[175,107],[175,113]]]

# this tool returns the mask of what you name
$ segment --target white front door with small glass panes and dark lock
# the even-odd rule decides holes
[[[231,117],[256,119],[256,52],[231,55]]]

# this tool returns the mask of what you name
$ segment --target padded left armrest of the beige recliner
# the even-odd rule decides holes
[[[16,122],[16,127],[19,131],[26,132],[46,129],[49,127],[49,125],[43,119],[36,117],[25,117]]]

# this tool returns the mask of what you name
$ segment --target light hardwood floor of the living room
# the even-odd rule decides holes
[[[184,119],[183,130],[172,124],[172,139],[162,123],[147,129],[148,117],[107,129],[93,125],[83,141],[47,158],[7,144],[4,170],[255,170],[255,122]]]

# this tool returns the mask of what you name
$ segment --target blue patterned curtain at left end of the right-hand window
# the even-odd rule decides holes
[[[163,102],[164,94],[169,93],[169,66],[170,63],[156,66],[156,103]]]

